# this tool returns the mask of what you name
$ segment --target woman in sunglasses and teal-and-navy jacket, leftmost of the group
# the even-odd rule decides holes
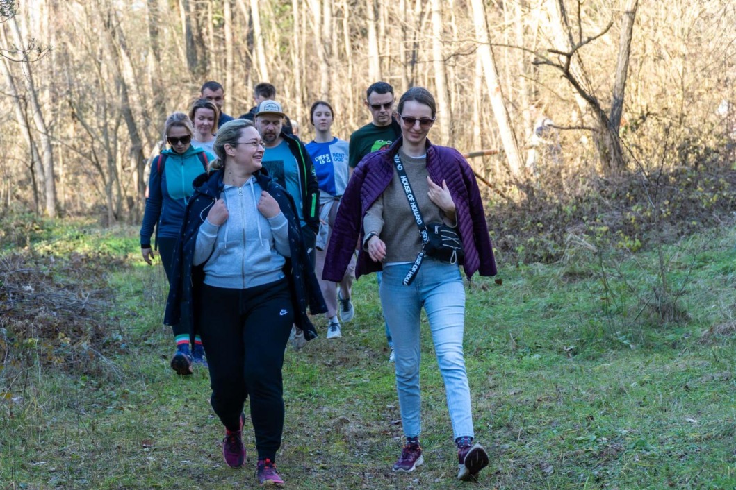
[[[184,211],[189,197],[194,193],[192,181],[207,170],[208,162],[215,157],[191,145],[194,133],[191,120],[183,112],[174,112],[166,118],[164,136],[170,148],[161,152],[151,164],[149,195],[141,224],[141,253],[152,264],[154,257],[151,235],[156,230],[156,242],[161,255],[166,278],[171,281],[171,257],[182,228]],[[194,348],[189,347],[189,329],[186,325],[172,325],[177,350],[171,359],[171,368],[180,375],[192,373],[191,364],[205,364],[205,351],[199,337]]]

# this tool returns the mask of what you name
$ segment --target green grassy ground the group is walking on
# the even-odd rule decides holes
[[[54,284],[71,273],[54,269],[49,256],[57,264],[73,250],[93,254],[89,262],[102,268],[85,273],[81,261],[74,270],[79,281],[97,281],[107,308],[96,336],[66,334],[63,323],[48,335],[38,313],[23,324],[1,314],[0,488],[257,486],[252,432],[244,431],[243,469],[222,461],[207,372],[180,378],[169,369],[163,269],[142,262],[136,235],[77,224],[15,238],[45,257]],[[322,337],[287,354],[277,461],[287,488],[736,488],[735,242],[733,228],[724,228],[665,249],[687,313],[678,324],[658,322],[643,306],[654,252],[615,260],[581,248],[553,265],[498,257],[501,281],[476,278],[467,287],[475,431],[491,455],[477,483],[454,479],[456,451],[426,328],[425,465],[391,472],[400,415],[375,280],[361,279],[342,339]],[[604,260],[616,264],[607,290],[601,264],[613,262]],[[3,278],[7,310],[10,275]]]

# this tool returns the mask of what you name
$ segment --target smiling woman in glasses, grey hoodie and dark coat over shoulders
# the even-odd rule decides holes
[[[219,167],[195,181],[175,258],[177,275],[166,308],[176,322],[183,304],[191,334],[207,353],[212,407],[225,426],[223,456],[245,461],[243,408],[258,451],[261,485],[283,485],[276,472],[284,419],[281,370],[291,325],[316,336],[306,314],[326,310],[303,245],[294,201],[261,172],[263,141],[247,120],[219,129]]]

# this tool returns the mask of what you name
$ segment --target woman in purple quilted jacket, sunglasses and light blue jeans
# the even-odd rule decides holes
[[[462,348],[463,280],[457,262],[425,256],[410,284],[404,284],[416,267],[423,242],[397,165],[406,171],[424,223],[444,223],[459,234],[464,248],[461,264],[468,278],[476,271],[495,275],[495,260],[473,170],[458,151],[427,139],[436,117],[434,97],[424,88],[411,88],[401,96],[397,112],[402,136],[389,149],[367,155],[344,192],[322,277],[328,281],[342,278],[358,237],[363,246],[355,275],[383,270],[379,294],[394,339],[396,386],[406,436],[394,472],[412,472],[424,462],[419,383],[420,313],[424,307],[458,447],[457,478],[470,480],[488,465],[488,455],[474,440]]]

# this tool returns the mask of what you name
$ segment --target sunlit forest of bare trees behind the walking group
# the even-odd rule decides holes
[[[495,187],[491,201],[733,161],[727,0],[0,5],[0,212],[137,223],[166,115],[210,79],[236,116],[256,83],[272,82],[304,140],[317,99],[333,104],[333,132],[347,139],[369,120],[369,83],[386,80],[397,96],[428,87],[439,105],[434,143],[498,151],[471,162]]]

